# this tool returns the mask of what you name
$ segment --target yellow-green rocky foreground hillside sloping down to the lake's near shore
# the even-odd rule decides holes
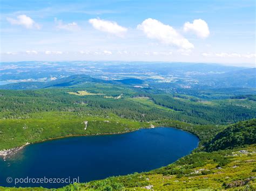
[[[244,126],[255,130],[255,121],[239,122],[228,126],[218,135],[236,127]],[[237,128],[237,133],[245,130]],[[232,133],[227,135],[232,138]],[[218,140],[216,136],[214,142]],[[252,131],[251,137],[256,137]],[[57,190],[172,190],[172,189],[235,189],[255,190],[256,182],[256,145],[254,140],[246,142],[232,150],[213,152],[193,152],[165,167],[145,173],[114,176],[104,180],[87,183],[75,183]],[[26,190],[29,188],[8,188],[8,190]],[[33,188],[33,190],[52,190]]]

